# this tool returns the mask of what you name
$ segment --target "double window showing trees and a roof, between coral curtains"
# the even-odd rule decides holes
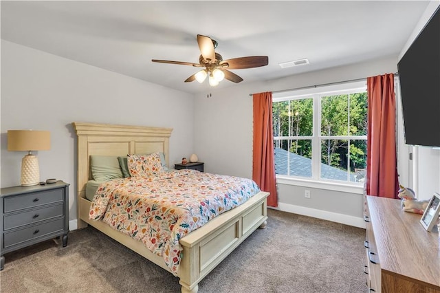
[[[274,94],[277,177],[363,182],[366,106],[365,81]]]

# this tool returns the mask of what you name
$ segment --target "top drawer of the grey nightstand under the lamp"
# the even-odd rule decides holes
[[[41,191],[38,193],[28,193],[6,197],[4,199],[4,213],[14,210],[23,210],[24,208],[33,208],[42,204],[52,202],[63,202],[63,189],[53,189],[50,191]]]

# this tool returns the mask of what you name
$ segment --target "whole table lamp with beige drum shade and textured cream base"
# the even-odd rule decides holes
[[[21,160],[21,186],[40,184],[39,160],[32,151],[50,150],[50,132],[8,130],[8,151],[28,151]]]

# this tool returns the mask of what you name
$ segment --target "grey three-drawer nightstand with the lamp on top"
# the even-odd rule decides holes
[[[69,184],[58,181],[36,186],[1,188],[0,270],[3,254],[35,243],[62,237],[69,232]]]

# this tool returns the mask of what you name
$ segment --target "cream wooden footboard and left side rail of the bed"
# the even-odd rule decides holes
[[[230,252],[245,240],[257,228],[265,228],[267,220],[266,198],[269,193],[260,192],[251,197],[248,202],[223,213],[208,224],[190,232],[179,243],[183,249],[179,277],[181,292],[195,293],[198,284],[212,269],[214,269]],[[144,244],[118,230],[114,230],[103,221],[89,219],[89,200],[80,199],[80,219],[100,230],[122,245],[142,255],[149,261],[168,270],[164,259],[154,254]]]

